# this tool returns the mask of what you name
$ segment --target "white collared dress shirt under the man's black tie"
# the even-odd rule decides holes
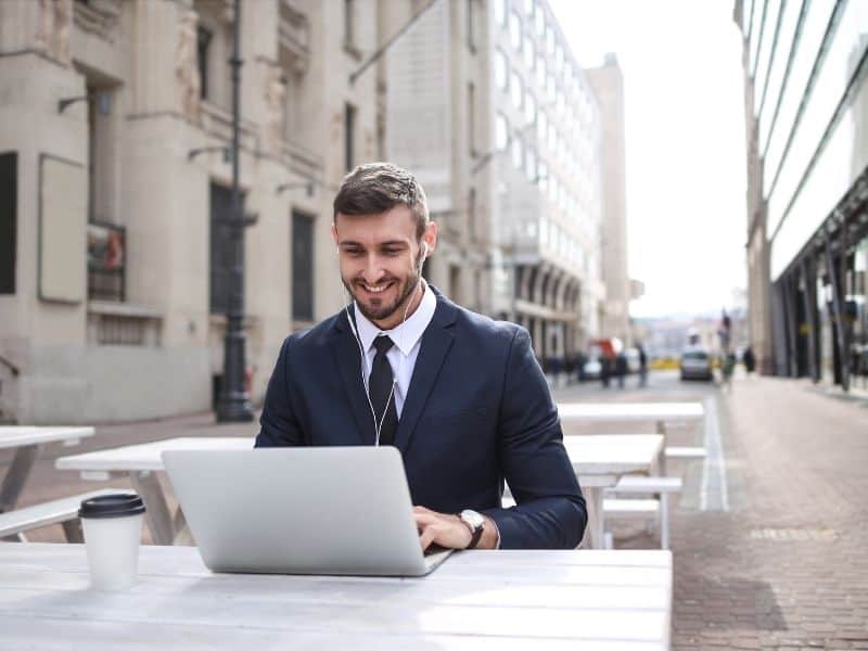
[[[427,283],[422,280],[422,302],[416,308],[413,314],[407,317],[407,320],[396,326],[392,330],[380,330],[376,326],[371,323],[365,315],[361,314],[359,306],[354,302],[353,309],[356,316],[356,327],[361,340],[361,348],[365,350],[365,383],[367,385],[368,378],[373,368],[373,358],[376,355],[376,348],[373,347],[373,340],[381,334],[387,334],[394,344],[386,353],[386,358],[392,367],[392,375],[397,379],[395,385],[395,409],[400,418],[401,410],[404,409],[404,400],[407,399],[407,391],[410,388],[410,380],[413,376],[413,369],[416,368],[416,358],[419,357],[419,348],[422,345],[422,334],[425,328],[431,323],[434,318],[434,310],[437,308],[437,298],[434,292],[427,286]]]

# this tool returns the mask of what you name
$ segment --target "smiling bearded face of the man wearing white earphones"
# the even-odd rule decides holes
[[[341,280],[361,314],[384,330],[399,324],[419,286],[423,259],[410,208],[399,204],[376,215],[339,213],[332,234],[341,260]],[[433,251],[433,224],[424,240],[427,251]]]

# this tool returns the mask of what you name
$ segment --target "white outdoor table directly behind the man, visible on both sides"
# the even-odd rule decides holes
[[[155,441],[128,445],[95,452],[62,457],[56,460],[59,470],[77,470],[86,480],[107,481],[128,476],[132,487],[142,496],[148,507],[145,518],[154,542],[171,545],[184,531],[183,511],[171,514],[163,485],[156,472],[162,472],[164,450],[177,449],[250,449],[253,438],[202,436]],[[612,487],[628,473],[650,472],[663,447],[663,436],[658,434],[625,434],[601,436],[571,436],[565,439],[566,451],[573,462],[588,505],[588,534],[595,548],[603,546],[602,500],[603,489]]]

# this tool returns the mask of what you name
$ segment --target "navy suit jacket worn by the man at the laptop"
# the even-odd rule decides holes
[[[585,500],[527,331],[435,294],[395,437],[412,502],[485,513],[501,549],[576,547]],[[346,310],[283,342],[259,422],[256,447],[373,445]]]

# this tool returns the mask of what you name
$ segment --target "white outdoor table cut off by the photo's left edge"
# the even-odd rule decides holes
[[[78,445],[87,436],[93,436],[93,427],[0,426],[0,449],[15,450],[0,484],[0,513],[15,508],[43,444]]]

